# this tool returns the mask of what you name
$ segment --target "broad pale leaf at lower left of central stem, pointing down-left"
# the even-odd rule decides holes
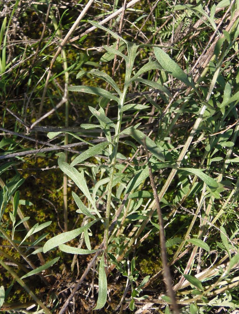
[[[82,226],[78,229],[63,232],[58,236],[54,236],[50,240],[46,241],[46,243],[43,246],[43,252],[46,253],[49,250],[53,249],[54,247],[59,246],[60,244],[63,244],[63,243],[68,242],[72,239],[75,239],[82,232],[84,232],[85,230],[89,229],[92,225],[94,225],[94,223],[96,223],[96,221],[98,221],[98,219],[93,220],[93,221],[89,222],[87,225]]]

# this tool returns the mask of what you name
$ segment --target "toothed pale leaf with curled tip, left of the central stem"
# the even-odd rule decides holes
[[[74,167],[67,164],[65,162],[65,154],[64,153],[56,154],[56,156],[59,156],[58,165],[59,165],[60,169],[75,182],[77,187],[79,187],[79,189],[85,194],[85,196],[88,198],[88,200],[90,201],[90,203],[92,204],[94,209],[97,211],[95,201],[91,198],[91,194],[90,194],[89,189],[87,187],[86,180],[84,177],[84,172],[83,171],[79,172]]]

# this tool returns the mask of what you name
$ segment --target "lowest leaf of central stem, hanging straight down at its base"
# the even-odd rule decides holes
[[[101,257],[99,267],[99,293],[96,307],[93,310],[102,309],[107,300],[107,278],[105,273],[104,254]]]

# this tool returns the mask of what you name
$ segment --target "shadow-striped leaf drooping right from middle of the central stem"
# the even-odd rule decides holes
[[[148,150],[152,153],[158,160],[164,161],[164,155],[162,153],[162,148],[158,147],[151,138],[145,135],[143,132],[136,130],[133,127],[127,128],[122,131],[124,134],[131,135],[139,144],[144,146],[144,139]]]

